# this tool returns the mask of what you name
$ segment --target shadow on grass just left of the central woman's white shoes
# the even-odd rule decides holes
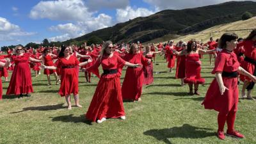
[[[70,115],[62,115],[62,116],[56,116],[56,117],[50,117],[50,118],[52,118],[52,122],[74,122],[74,123],[84,123],[84,124],[92,125],[92,122],[89,120],[86,120],[84,115],[74,116],[73,114],[70,114]]]

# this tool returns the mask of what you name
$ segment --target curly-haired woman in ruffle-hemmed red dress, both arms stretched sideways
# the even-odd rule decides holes
[[[186,78],[184,83],[188,83],[189,95],[200,95],[198,92],[199,84],[203,84],[205,79],[201,77],[201,61],[199,60],[199,54],[209,54],[210,52],[216,51],[215,49],[205,51],[199,49],[200,45],[196,45],[195,40],[190,40],[188,42],[188,48],[186,51],[173,52],[179,56],[186,55]],[[193,93],[193,84],[195,93]]]

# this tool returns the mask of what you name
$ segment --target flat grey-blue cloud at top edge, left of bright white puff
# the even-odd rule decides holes
[[[88,0],[86,1],[90,11],[94,12],[100,10],[101,8],[116,9],[125,8],[129,6],[129,0]]]

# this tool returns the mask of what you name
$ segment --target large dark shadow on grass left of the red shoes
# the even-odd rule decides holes
[[[206,138],[208,136],[216,135],[216,132],[207,132],[212,129],[204,127],[194,127],[189,124],[184,124],[181,127],[172,127],[168,129],[151,129],[143,132],[147,136],[153,136],[159,141],[171,144],[172,138]]]

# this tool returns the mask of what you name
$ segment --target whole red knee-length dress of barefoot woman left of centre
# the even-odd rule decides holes
[[[67,60],[66,58],[60,58],[58,60],[57,67],[60,68],[61,84],[59,94],[61,97],[74,94],[78,94],[78,76],[76,68],[79,61],[75,56],[70,56]]]

